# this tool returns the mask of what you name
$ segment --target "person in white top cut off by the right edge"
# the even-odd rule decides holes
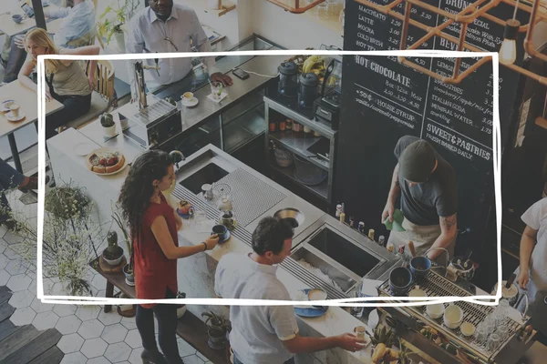
[[[532,317],[532,326],[542,332],[543,339],[547,334],[547,198],[528,208],[521,217],[526,224],[521,238],[521,264],[515,270],[517,283],[525,290]],[[519,309],[525,307],[521,300]]]

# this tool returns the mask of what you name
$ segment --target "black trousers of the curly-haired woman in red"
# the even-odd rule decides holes
[[[167,289],[165,298],[176,298],[176,295]],[[153,308],[143,308],[137,305],[137,329],[139,329],[142,347],[150,351],[157,351],[156,336],[154,334],[154,314],[158,319],[158,340],[160,348],[169,364],[182,364],[179,346],[177,345],[177,305],[157,304]]]

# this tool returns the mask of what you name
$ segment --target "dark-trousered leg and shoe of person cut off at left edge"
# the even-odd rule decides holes
[[[49,176],[46,176],[46,184],[49,182]],[[13,230],[15,221],[11,218],[11,208],[5,198],[4,191],[17,187],[22,192],[27,192],[29,189],[38,188],[38,178],[26,177],[17,172],[14,167],[11,167],[5,160],[0,158],[0,225]]]

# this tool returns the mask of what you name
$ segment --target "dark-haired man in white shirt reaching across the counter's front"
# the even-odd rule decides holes
[[[264,217],[253,232],[253,253],[228,254],[216,270],[214,288],[222,298],[291,300],[275,276],[291,253],[293,230],[282,220]],[[232,306],[230,345],[233,364],[294,363],[294,354],[332,348],[362,349],[353,334],[305,338],[298,334],[293,306]]]

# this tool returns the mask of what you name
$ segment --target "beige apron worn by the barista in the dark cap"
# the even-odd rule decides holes
[[[426,254],[426,251],[431,248],[435,240],[437,240],[440,236],[440,225],[419,226],[405,218],[403,220],[402,227],[404,227],[407,231],[391,231],[391,234],[389,234],[389,239],[387,239],[387,243],[393,243],[395,252],[397,252],[398,247],[404,245],[406,247],[405,254],[408,256],[410,256],[408,241],[412,240],[414,243],[416,255],[423,256]],[[455,242],[456,238],[450,242],[449,248],[446,248],[450,255],[449,261],[454,256]],[[435,259],[435,262],[444,267],[447,264],[446,259],[447,254],[441,250],[441,254]]]

